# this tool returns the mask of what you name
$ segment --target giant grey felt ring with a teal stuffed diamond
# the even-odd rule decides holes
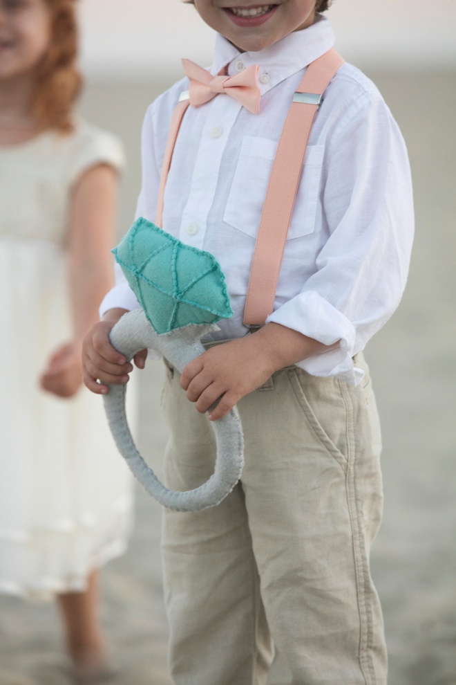
[[[225,277],[213,255],[182,244],[142,217],[113,250],[142,309],[125,314],[111,331],[111,343],[128,360],[154,349],[178,371],[205,351],[201,338],[216,321],[232,315]],[[111,385],[104,407],[117,448],[129,468],[160,504],[177,511],[215,506],[242,473],[243,432],[236,408],[211,423],[216,437],[214,472],[188,491],[172,491],[155,476],[138,452],[128,426],[125,385]]]

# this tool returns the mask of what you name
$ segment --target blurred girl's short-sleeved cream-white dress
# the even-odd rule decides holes
[[[97,163],[122,167],[117,138],[85,122],[0,147],[0,592],[82,590],[126,548],[132,480],[102,399],[39,390],[46,360],[71,338],[68,200]]]

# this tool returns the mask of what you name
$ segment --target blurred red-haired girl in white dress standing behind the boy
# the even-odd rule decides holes
[[[77,679],[94,682],[97,568],[125,549],[132,496],[80,390],[82,337],[111,286],[122,149],[73,116],[76,44],[70,0],[0,0],[0,592],[57,596]]]

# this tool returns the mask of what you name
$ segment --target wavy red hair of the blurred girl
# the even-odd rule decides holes
[[[45,0],[50,12],[50,42],[37,70],[33,111],[40,123],[64,133],[73,130],[73,104],[82,78],[77,71],[77,24],[71,0]]]

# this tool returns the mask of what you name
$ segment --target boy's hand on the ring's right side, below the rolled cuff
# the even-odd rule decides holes
[[[211,347],[184,368],[180,385],[187,397],[204,414],[217,421],[252,390],[263,385],[276,371],[256,334]]]

